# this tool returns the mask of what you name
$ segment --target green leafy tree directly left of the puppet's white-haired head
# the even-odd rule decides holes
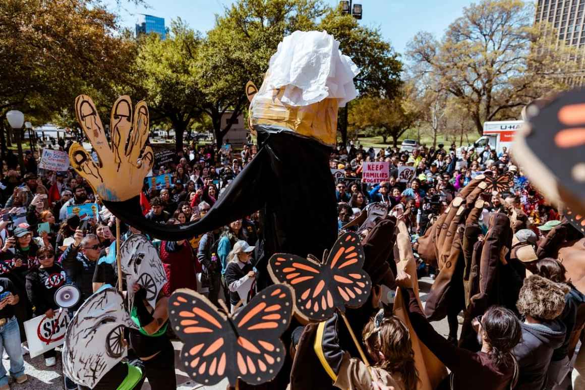
[[[239,0],[216,19],[199,52],[198,80],[218,146],[247,107],[247,81],[260,87],[283,37],[314,29],[323,12],[321,0]],[[222,124],[226,112],[232,120]]]

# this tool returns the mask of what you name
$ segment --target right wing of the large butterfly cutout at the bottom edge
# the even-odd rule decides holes
[[[238,331],[235,360],[230,361],[238,377],[258,385],[270,381],[284,364],[286,349],[280,340],[288,328],[294,293],[283,284],[261,290],[233,317]]]

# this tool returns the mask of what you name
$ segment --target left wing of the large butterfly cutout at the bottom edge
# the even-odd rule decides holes
[[[181,362],[189,377],[201,385],[228,378],[236,385],[236,335],[228,317],[209,300],[190,289],[178,289],[168,301],[174,333],[183,341]]]

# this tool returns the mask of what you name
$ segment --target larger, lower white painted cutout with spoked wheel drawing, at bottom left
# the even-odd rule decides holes
[[[126,356],[124,328],[137,329],[115,288],[99,290],[77,310],[65,333],[63,373],[94,388]]]

